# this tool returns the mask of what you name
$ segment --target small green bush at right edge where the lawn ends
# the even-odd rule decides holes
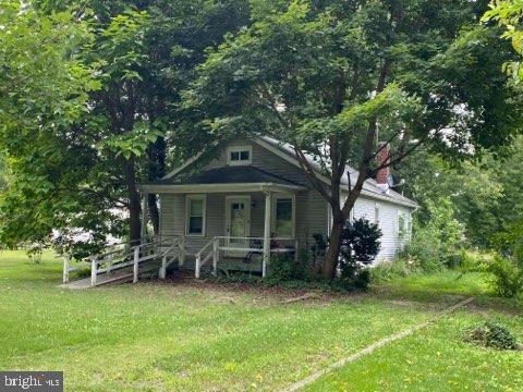
[[[512,298],[523,292],[523,269],[513,259],[495,256],[487,271],[492,274],[491,284],[499,295]]]

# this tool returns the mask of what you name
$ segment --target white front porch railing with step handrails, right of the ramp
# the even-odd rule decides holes
[[[231,244],[231,241],[244,242],[243,244]],[[199,249],[195,255],[194,275],[199,279],[202,267],[212,259],[212,275],[218,273],[218,262],[220,261],[221,252],[245,253],[246,257],[264,254],[264,237],[236,237],[236,236],[215,236]],[[285,237],[270,238],[270,254],[294,253],[297,259],[297,240]],[[266,259],[264,257],[262,274],[266,274]]]

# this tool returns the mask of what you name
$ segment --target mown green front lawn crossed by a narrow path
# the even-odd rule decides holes
[[[367,294],[285,304],[299,293],[194,282],[70,292],[57,287],[60,260],[45,255],[34,265],[3,252],[0,369],[63,370],[70,391],[272,391],[473,294],[469,309],[311,389],[518,390],[523,353],[477,348],[461,333],[494,318],[523,341],[523,307],[491,297],[478,275],[457,277],[410,277]]]

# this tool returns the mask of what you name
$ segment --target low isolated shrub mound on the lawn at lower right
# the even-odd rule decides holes
[[[519,350],[520,347],[507,327],[491,321],[469,328],[463,340],[497,350]]]

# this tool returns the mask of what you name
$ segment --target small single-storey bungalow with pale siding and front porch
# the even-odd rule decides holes
[[[139,187],[143,196],[159,195],[160,238],[183,244],[180,265],[194,268],[196,277],[211,264],[215,273],[228,266],[265,275],[271,254],[296,255],[314,243],[314,234],[329,236],[330,206],[311,186],[290,145],[259,136],[212,150]],[[319,170],[314,157],[308,159]],[[409,238],[416,207],[387,185],[387,170],[365,182],[352,213],[379,224],[377,261],[390,260]]]

